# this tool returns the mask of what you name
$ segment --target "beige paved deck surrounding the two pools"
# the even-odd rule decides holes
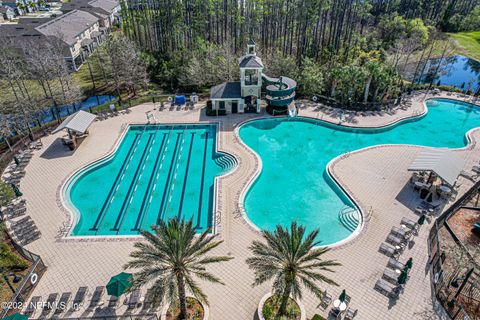
[[[446,94],[435,97],[452,97]],[[411,109],[405,114],[393,116],[367,116],[354,119],[355,126],[372,127],[388,125],[399,118],[411,117],[424,110],[423,96],[413,98]],[[27,199],[27,214],[32,217],[42,232],[42,237],[29,244],[27,249],[39,254],[48,266],[31,296],[72,292],[74,295],[80,286],[88,286],[90,294],[96,286],[106,285],[109,278],[123,271],[122,266],[129,260],[134,239],[75,239],[65,240],[59,237],[59,229],[68,215],[59,200],[60,190],[66,179],[86,164],[99,159],[112,151],[122,131],[128,123],[144,123],[145,112],[153,109],[152,104],[134,107],[128,115],[120,115],[105,121],[95,122],[90,135],[75,152],[67,151],[60,143],[61,133],[42,139],[44,148],[35,154],[26,168],[21,181],[21,190]],[[420,111],[419,111],[420,110]],[[415,113],[417,112],[417,113]],[[235,134],[235,128],[246,120],[268,116],[266,114],[242,114],[224,117],[206,117],[199,108],[190,111],[153,111],[162,123],[220,122],[219,148],[237,157],[239,167],[231,174],[218,180],[217,212],[218,233],[224,241],[215,253],[231,255],[232,261],[211,266],[209,270],[225,282],[225,285],[201,283],[210,301],[210,319],[243,320],[253,319],[261,297],[269,291],[269,285],[252,288],[253,272],[248,269],[245,259],[250,256],[248,246],[254,239],[260,239],[259,233],[244,219],[239,209],[239,197],[248,182],[258,170],[258,159],[249,151]],[[318,117],[338,123],[338,118],[329,114],[322,116],[314,106],[302,108],[301,116]],[[471,137],[480,139],[480,130],[473,131]],[[378,252],[392,226],[399,226],[402,217],[416,220],[413,213],[419,202],[418,195],[408,187],[410,174],[407,167],[421,150],[421,147],[387,145],[352,152],[348,157],[335,161],[331,166],[334,177],[361,205],[371,212],[361,233],[352,241],[332,249],[325,258],[336,259],[342,263],[331,277],[339,287],[322,285],[335,298],[343,288],[352,297],[350,307],[358,309],[356,319],[435,319],[432,307],[430,274],[427,268],[427,234],[429,225],[424,225],[415,244],[402,254],[405,262],[413,257],[414,267],[405,292],[396,301],[374,290],[374,284],[381,278],[388,258]],[[457,149],[466,159],[465,170],[469,171],[480,158],[480,146],[477,143],[467,148]],[[464,193],[473,182],[460,177],[459,195]],[[137,238],[139,240],[139,238]],[[108,296],[103,296],[107,301]],[[88,301],[88,300],[87,300]],[[123,301],[123,300],[122,300]],[[326,315],[317,308],[318,301],[309,293],[302,299],[307,314]],[[106,304],[105,304],[106,305]],[[135,310],[131,314],[138,313]],[[126,307],[117,309],[107,307],[96,310],[80,309],[63,313],[63,317],[92,315],[121,315]],[[40,310],[34,314],[41,316]],[[45,315],[44,315],[45,316]],[[47,317],[51,316],[46,315]]]

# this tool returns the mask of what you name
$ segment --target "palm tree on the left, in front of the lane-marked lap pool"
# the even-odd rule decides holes
[[[134,259],[125,265],[125,269],[134,268],[132,287],[138,288],[153,283],[151,289],[156,304],[167,298],[170,302],[180,302],[179,319],[185,319],[186,289],[198,300],[208,304],[207,296],[198,287],[193,276],[201,280],[220,283],[219,278],[207,272],[205,266],[211,263],[228,261],[232,257],[206,256],[222,241],[216,241],[216,235],[210,235],[207,229],[196,236],[192,220],[172,218],[168,222],[160,221],[152,226],[152,233],[140,231],[146,242],[135,243],[136,251],[130,256]]]

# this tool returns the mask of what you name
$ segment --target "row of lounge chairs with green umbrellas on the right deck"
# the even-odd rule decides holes
[[[405,267],[398,259],[404,252],[413,234],[418,232],[419,225],[413,220],[403,217],[401,226],[394,226],[386,238],[386,243],[380,244],[379,251],[389,257],[387,267],[382,278],[375,283],[375,290],[383,295],[395,299],[399,294],[398,277]]]

